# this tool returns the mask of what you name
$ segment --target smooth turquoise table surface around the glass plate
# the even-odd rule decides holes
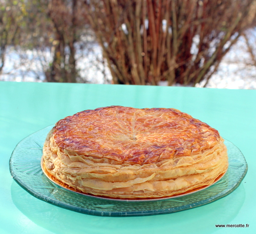
[[[79,111],[113,105],[176,108],[208,123],[243,153],[244,180],[228,196],[186,211],[100,217],[39,200],[12,179],[9,159],[20,140]],[[256,90],[0,82],[0,234],[255,234],[255,147]]]

